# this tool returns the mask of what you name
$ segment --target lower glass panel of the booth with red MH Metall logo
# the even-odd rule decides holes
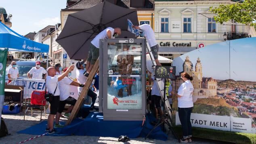
[[[107,109],[142,109],[141,77],[108,77]]]

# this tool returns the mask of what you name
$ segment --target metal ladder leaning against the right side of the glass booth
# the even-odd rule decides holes
[[[152,65],[153,71],[155,71],[155,66],[156,66],[157,64],[156,64],[156,62],[155,62],[155,58],[154,58],[154,56],[153,56],[153,53],[152,53],[152,51],[151,51],[151,48],[150,48],[149,43],[147,42],[147,40],[146,40],[146,45],[147,45],[147,50],[148,50],[148,52],[149,52],[149,56],[150,56],[151,61],[152,61],[152,63],[153,63],[153,65]],[[148,66],[147,66],[147,67],[148,67]],[[164,100],[164,85],[162,84],[163,81],[162,81],[162,79],[156,78],[156,82],[157,82],[158,90],[160,91],[160,94],[161,94],[161,96],[162,96],[162,100]],[[164,105],[165,105],[165,108],[166,108],[166,110],[167,110],[167,112],[168,112],[168,115],[169,115],[169,117],[170,117],[170,120],[172,120],[172,107],[171,107],[171,105],[170,105],[170,102],[169,102],[167,96],[165,97],[165,104],[164,104]]]

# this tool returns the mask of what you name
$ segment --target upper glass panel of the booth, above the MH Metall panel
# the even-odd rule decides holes
[[[141,44],[115,43],[108,46],[109,75],[141,74]]]

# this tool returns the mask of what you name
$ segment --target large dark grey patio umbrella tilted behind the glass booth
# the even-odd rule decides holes
[[[127,31],[130,19],[138,25],[136,10],[123,8],[109,2],[101,2],[96,6],[69,14],[57,42],[66,50],[71,59],[84,59],[88,55],[90,42],[107,27],[120,27],[122,35],[119,38],[134,38]]]

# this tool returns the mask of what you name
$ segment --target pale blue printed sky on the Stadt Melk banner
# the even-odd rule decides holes
[[[178,75],[179,72],[183,71],[183,63],[186,56],[189,56],[194,69],[199,57],[203,77],[212,77],[220,80],[256,81],[256,76],[254,75],[256,72],[255,41],[256,38],[243,38],[212,44],[174,58],[172,65],[176,66],[176,75]]]

